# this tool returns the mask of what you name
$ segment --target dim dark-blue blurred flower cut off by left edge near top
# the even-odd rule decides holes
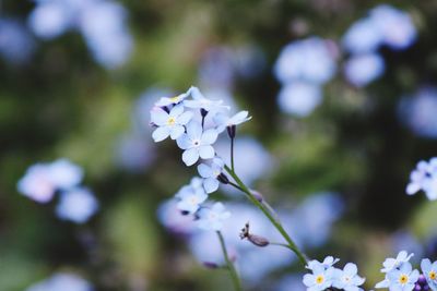
[[[0,54],[9,63],[26,62],[35,50],[27,28],[16,20],[0,17]]]

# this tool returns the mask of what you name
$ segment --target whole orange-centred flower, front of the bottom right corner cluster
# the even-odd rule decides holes
[[[420,272],[413,270],[410,263],[403,263],[399,269],[393,269],[387,274],[390,282],[390,291],[412,291],[417,282]]]

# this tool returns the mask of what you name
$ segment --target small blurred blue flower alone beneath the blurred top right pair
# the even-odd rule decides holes
[[[351,57],[344,64],[344,74],[349,82],[363,87],[383,74],[385,62],[378,53],[365,53]]]

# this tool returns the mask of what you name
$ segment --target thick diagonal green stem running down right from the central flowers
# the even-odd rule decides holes
[[[238,185],[238,189],[243,191],[247,197],[250,199],[252,204],[255,204],[265,216],[269,218],[269,220],[272,222],[272,225],[276,228],[276,230],[281,233],[281,235],[285,239],[285,241],[288,244],[288,248],[292,250],[296,256],[299,258],[300,263],[304,264],[304,266],[307,265],[307,258],[305,254],[297,247],[297,245],[294,243],[292,238],[290,238],[288,233],[285,231],[281,222],[274,217],[272,213],[269,211],[265,206],[259,202],[253,194],[250,192],[250,190],[243,183],[243,181],[239,179],[239,177],[235,173],[234,170],[232,170],[227,165],[225,165],[225,170],[226,172],[235,180],[235,182]]]

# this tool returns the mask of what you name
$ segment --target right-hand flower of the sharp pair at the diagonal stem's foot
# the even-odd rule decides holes
[[[359,288],[366,279],[358,276],[358,268],[353,263],[347,263],[343,270],[335,269],[332,287],[344,291],[361,291]]]

